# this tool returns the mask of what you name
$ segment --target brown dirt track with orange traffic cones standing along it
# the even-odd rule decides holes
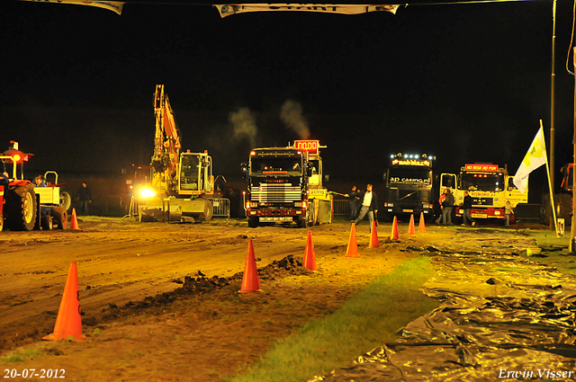
[[[364,222],[355,258],[345,256],[350,225],[339,221],[310,229],[319,268],[311,272],[302,265],[308,229],[252,229],[234,219],[139,224],[96,217],[81,218],[79,227],[0,235],[0,351],[4,360],[27,354],[4,363],[3,378],[5,369],[58,369],[73,381],[220,381],[418,256],[406,251],[410,246],[492,244],[515,251],[533,242],[514,230],[487,239],[466,236],[472,228],[461,227],[428,226],[407,235],[406,224],[391,242],[391,224],[381,224],[380,247],[368,248]],[[238,294],[250,239],[263,292]],[[53,332],[73,261],[86,341],[42,341]]]

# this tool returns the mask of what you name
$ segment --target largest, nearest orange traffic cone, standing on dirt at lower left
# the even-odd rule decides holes
[[[82,319],[80,318],[80,298],[78,297],[78,271],[76,262],[70,265],[64,294],[58,309],[58,317],[54,325],[54,333],[45,337],[44,340],[57,341],[62,339],[84,341],[82,335]]]

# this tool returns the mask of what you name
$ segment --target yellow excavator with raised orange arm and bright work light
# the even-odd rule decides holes
[[[156,134],[149,182],[140,185],[138,219],[147,221],[205,221],[212,217],[214,195],[212,159],[207,151],[181,152],[179,130],[164,85],[154,95]]]

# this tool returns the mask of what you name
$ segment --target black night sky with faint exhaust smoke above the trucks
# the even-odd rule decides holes
[[[572,159],[571,3],[556,20],[557,168]],[[552,1],[536,0],[224,19],[210,5],[134,2],[118,15],[3,1],[0,147],[19,141],[41,172],[149,164],[165,84],[183,148],[208,150],[215,174],[307,134],[336,178],[380,178],[398,151],[515,173],[539,120],[549,137],[552,29]]]

